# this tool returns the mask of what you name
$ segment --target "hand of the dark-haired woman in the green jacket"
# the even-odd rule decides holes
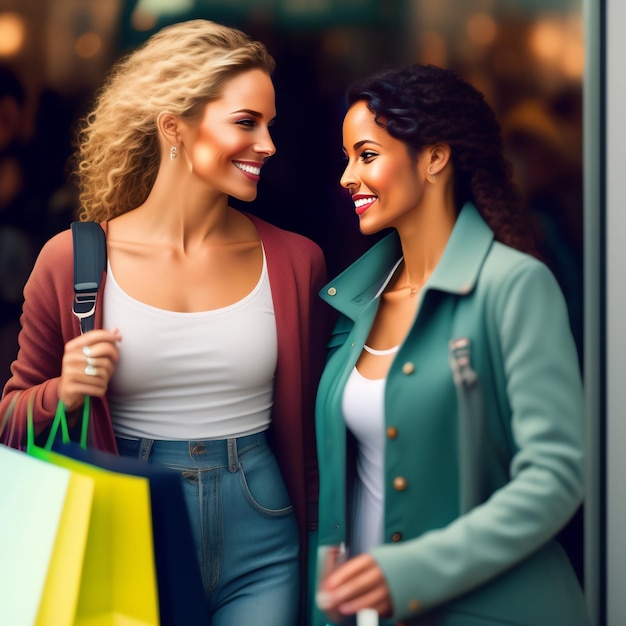
[[[361,609],[375,609],[381,617],[392,612],[387,581],[369,554],[350,559],[329,574],[317,593],[317,604],[333,621]]]

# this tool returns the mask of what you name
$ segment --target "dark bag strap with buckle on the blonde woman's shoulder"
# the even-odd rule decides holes
[[[106,270],[107,247],[97,222],[72,222],[74,243],[74,302],[72,311],[80,322],[80,332],[93,330],[96,298]]]

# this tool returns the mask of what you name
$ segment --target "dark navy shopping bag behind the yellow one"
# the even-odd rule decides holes
[[[209,624],[180,473],[138,459],[84,449],[74,442],[57,442],[53,450],[107,470],[148,479],[161,626]]]

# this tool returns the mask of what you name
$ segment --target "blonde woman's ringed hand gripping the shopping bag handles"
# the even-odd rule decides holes
[[[74,411],[85,396],[101,397],[119,358],[119,330],[90,330],[65,344],[61,365],[59,400],[67,411]]]

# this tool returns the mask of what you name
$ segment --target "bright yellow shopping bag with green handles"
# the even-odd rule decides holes
[[[27,452],[91,479],[93,501],[73,620],[58,619],[57,611],[68,600],[59,584],[59,594],[50,597],[46,607],[50,621],[44,621],[41,614],[37,626],[159,626],[148,480],[54,452],[51,448],[59,427],[64,441],[69,441],[65,412],[59,407],[44,446],[34,443],[29,418]],[[87,400],[81,433],[85,445],[88,415]]]

